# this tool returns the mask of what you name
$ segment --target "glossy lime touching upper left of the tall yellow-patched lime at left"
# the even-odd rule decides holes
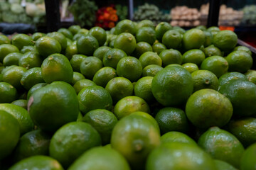
[[[18,61],[18,65],[26,69],[41,67],[42,59],[37,52],[26,52]]]

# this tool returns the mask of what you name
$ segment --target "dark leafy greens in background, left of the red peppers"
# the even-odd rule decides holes
[[[76,0],[70,7],[69,11],[73,13],[75,22],[80,26],[92,27],[96,21],[97,6],[95,1]]]

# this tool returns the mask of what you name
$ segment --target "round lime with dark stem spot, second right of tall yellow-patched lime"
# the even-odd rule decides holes
[[[80,72],[87,79],[92,79],[95,73],[102,68],[102,60],[97,57],[86,57],[80,64]]]

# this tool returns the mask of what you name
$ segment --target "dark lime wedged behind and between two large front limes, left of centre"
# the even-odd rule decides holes
[[[115,115],[105,109],[96,109],[85,114],[82,121],[92,125],[99,132],[102,145],[110,144],[110,137],[114,125],[117,124]]]

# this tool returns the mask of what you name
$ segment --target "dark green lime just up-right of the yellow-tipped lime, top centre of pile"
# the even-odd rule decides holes
[[[153,45],[156,41],[156,31],[150,27],[142,27],[136,33],[137,42],[148,42]]]

